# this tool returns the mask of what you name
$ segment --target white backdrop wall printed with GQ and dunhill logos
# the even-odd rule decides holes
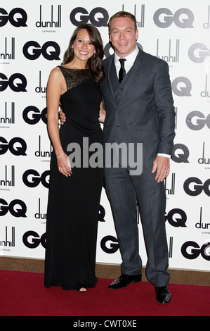
[[[210,2],[15,0],[0,5],[0,255],[44,258],[51,144],[46,83],[72,32],[92,23],[108,44],[107,21],[130,11],[138,46],[169,63],[176,139],[166,180],[169,267],[209,270]],[[81,202],[82,208],[82,202]],[[140,222],[140,220],[139,220]],[[146,263],[139,223],[140,254]],[[103,190],[97,262],[121,263]]]

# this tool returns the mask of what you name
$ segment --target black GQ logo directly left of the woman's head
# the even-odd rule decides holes
[[[29,53],[29,48],[32,47],[32,53]],[[22,53],[29,60],[37,60],[42,54],[46,60],[60,60],[60,46],[56,42],[45,42],[43,46],[40,46],[38,42],[27,42],[23,48]]]

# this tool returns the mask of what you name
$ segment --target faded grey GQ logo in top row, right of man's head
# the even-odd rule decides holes
[[[160,20],[161,15],[164,15],[163,21]],[[187,16],[187,18],[181,19],[181,15]],[[185,29],[193,27],[194,15],[188,8],[180,8],[174,14],[168,8],[159,8],[153,15],[153,20],[158,27],[166,28],[174,22],[177,27]]]

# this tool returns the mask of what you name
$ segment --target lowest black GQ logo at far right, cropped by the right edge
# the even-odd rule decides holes
[[[190,252],[188,252],[189,249]],[[197,242],[185,242],[183,246],[181,246],[181,253],[189,260],[194,260],[201,254],[205,260],[210,261],[210,242],[206,242],[206,244],[203,244],[201,247]]]

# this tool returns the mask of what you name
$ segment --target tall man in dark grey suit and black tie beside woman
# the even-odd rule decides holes
[[[147,279],[155,286],[159,303],[171,301],[169,254],[165,230],[166,194],[164,178],[169,174],[173,149],[173,97],[169,66],[136,46],[138,30],[131,13],[119,12],[110,18],[110,42],[114,54],[103,61],[102,91],[106,117],[104,142],[143,145],[142,172],[119,164],[105,167],[105,189],[110,200],[122,254],[122,275],[110,289],[140,282],[136,202],[140,209],[147,251]],[[119,62],[124,59],[124,65]],[[124,75],[122,73],[124,72]],[[119,77],[119,78],[118,78]],[[129,147],[128,147],[129,148]]]

